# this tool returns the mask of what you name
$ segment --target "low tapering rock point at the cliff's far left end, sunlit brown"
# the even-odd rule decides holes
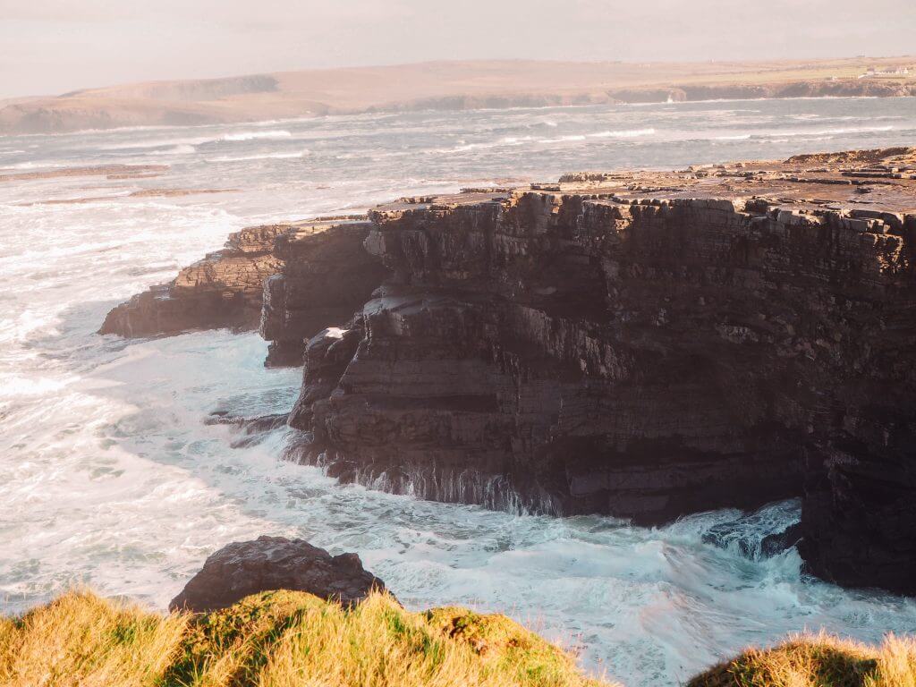
[[[350,320],[387,277],[363,249],[369,229],[338,217],[230,234],[224,250],[114,308],[99,333],[259,328],[272,342],[267,365],[301,365],[303,342]]]

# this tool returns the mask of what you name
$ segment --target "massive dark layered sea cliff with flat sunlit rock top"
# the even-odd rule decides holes
[[[311,336],[290,453],[644,523],[802,495],[812,572],[916,592],[914,233],[908,148],[405,199],[301,249],[281,232],[262,332],[288,359]],[[315,250],[336,234],[365,250]]]

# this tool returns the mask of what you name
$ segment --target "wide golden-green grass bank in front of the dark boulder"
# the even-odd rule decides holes
[[[161,616],[88,591],[0,618],[3,687],[602,687],[508,619],[411,613],[386,594],[351,610],[300,592]]]

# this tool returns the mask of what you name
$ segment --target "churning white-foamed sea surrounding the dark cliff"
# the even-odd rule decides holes
[[[164,607],[233,540],[356,551],[410,608],[503,611],[627,685],[675,684],[749,643],[825,627],[875,640],[916,604],[747,555],[799,518],[705,513],[657,529],[530,517],[337,485],[204,424],[289,409],[300,370],[254,333],[125,341],[114,304],[244,226],[400,195],[916,141],[916,99],[747,101],[327,117],[0,137],[0,174],[163,164],[153,179],[0,181],[0,594],[6,612],[73,583]],[[150,189],[232,190],[130,197]],[[85,199],[98,198],[96,201]],[[83,199],[77,204],[47,201]],[[241,444],[241,445],[240,445]],[[721,546],[704,541],[711,532]],[[708,537],[707,537],[708,538]],[[743,552],[743,550],[745,552]]]

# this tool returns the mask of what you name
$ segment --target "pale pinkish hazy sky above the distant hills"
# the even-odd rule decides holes
[[[914,0],[0,0],[0,98],[419,60],[912,52]]]

